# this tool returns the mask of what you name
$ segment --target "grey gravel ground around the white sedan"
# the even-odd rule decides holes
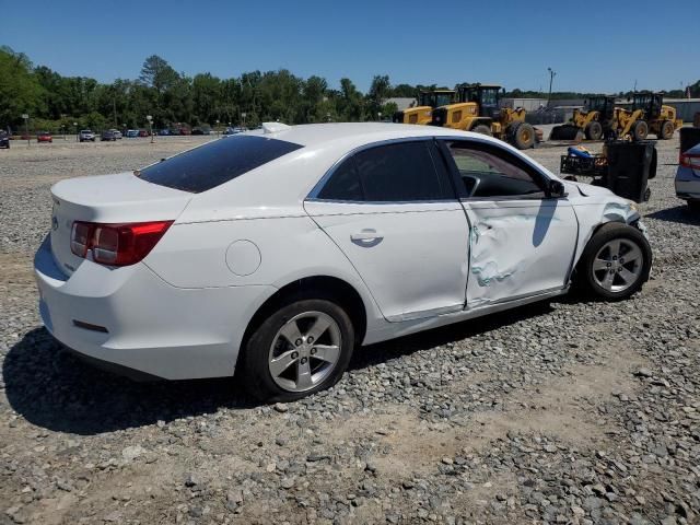
[[[42,328],[31,258],[61,178],[201,138],[0,150],[0,524],[698,523],[700,217],[677,139],[642,205],[653,279],[360,349],[331,390],[136,384]],[[562,148],[530,154],[558,170]]]

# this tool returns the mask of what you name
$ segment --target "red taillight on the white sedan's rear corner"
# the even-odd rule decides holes
[[[92,253],[95,262],[109,266],[133,265],[153,249],[173,221],[100,224],[73,222],[70,249],[78,257]]]

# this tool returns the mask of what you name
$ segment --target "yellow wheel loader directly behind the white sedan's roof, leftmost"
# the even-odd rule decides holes
[[[534,148],[535,128],[525,121],[525,109],[500,107],[501,89],[497,84],[459,84],[457,102],[434,108],[431,124],[489,135],[520,150]]]

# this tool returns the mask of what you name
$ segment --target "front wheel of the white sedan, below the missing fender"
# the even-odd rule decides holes
[[[626,256],[634,258],[620,264]],[[576,283],[598,299],[621,301],[642,288],[649,280],[651,267],[652,249],[642,232],[628,224],[607,223],[583,250],[576,266]]]

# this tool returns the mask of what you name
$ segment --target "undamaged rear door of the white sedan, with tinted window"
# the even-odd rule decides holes
[[[304,206],[388,320],[464,307],[469,229],[432,139],[357,152]]]

